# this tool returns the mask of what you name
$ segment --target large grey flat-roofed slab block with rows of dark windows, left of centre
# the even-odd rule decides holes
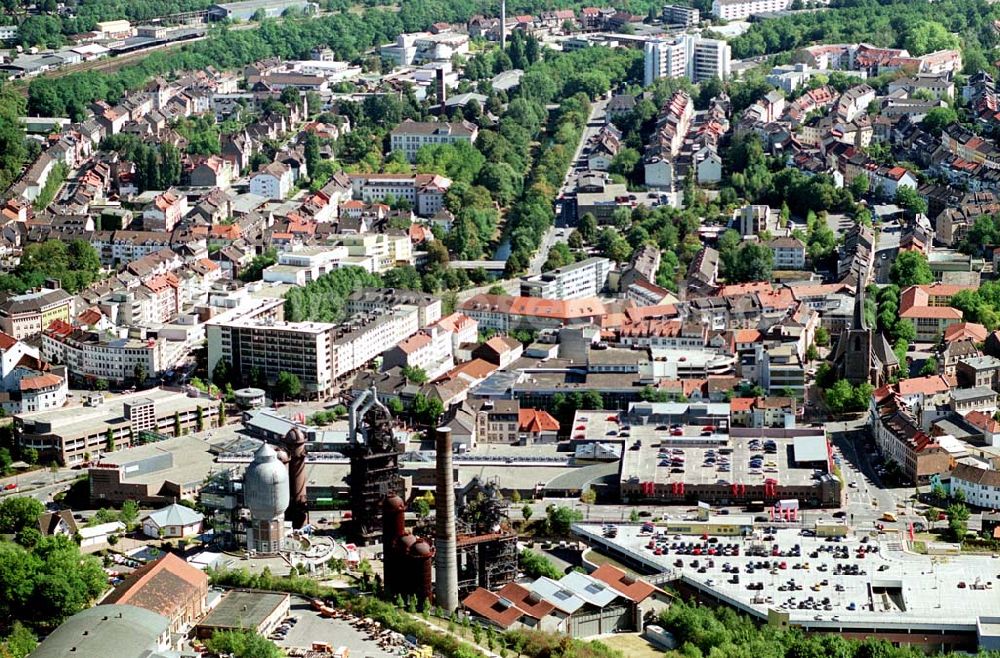
[[[260,373],[269,384],[289,372],[309,396],[325,396],[333,386],[333,332],[326,322],[284,322],[284,302],[255,300],[206,323],[209,372],[221,360],[231,372]]]

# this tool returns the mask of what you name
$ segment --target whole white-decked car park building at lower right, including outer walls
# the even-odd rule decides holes
[[[800,530],[728,517],[574,532],[660,574],[658,584],[766,623],[940,651],[1000,645],[995,556],[920,555],[903,550],[898,536],[855,536],[830,522]]]

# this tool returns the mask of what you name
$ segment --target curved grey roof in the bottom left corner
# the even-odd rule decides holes
[[[143,658],[156,654],[158,638],[170,620],[132,605],[99,605],[62,623],[35,649],[32,658],[115,656]]]

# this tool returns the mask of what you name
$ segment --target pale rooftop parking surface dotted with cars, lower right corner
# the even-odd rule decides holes
[[[969,632],[979,614],[1000,606],[996,556],[918,555],[903,550],[898,534],[835,539],[764,527],[712,541],[657,537],[634,525],[619,526],[613,538],[599,525],[578,528],[593,545],[611,546],[754,616],[773,610],[807,628]]]

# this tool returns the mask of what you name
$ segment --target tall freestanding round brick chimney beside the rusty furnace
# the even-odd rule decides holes
[[[455,482],[451,464],[451,428],[437,430],[435,507],[435,604],[448,612],[458,608],[458,557],[455,539]]]

